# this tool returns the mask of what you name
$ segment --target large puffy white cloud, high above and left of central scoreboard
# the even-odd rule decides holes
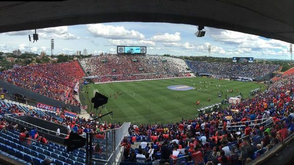
[[[88,24],[87,30],[96,37],[106,39],[135,39],[142,40],[145,36],[136,30],[126,30],[123,26],[104,25],[102,23]]]

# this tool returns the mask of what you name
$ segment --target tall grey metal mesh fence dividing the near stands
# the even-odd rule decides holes
[[[131,123],[123,123],[119,128],[101,131],[98,134],[104,135],[104,138],[99,139],[96,136],[93,138],[93,148],[99,146],[101,153],[93,154],[92,161],[98,165],[110,165],[111,162],[120,162],[123,154],[123,148],[120,144],[128,134],[128,128]]]

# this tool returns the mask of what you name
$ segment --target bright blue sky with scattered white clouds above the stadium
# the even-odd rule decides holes
[[[0,33],[0,52],[20,49],[50,55],[54,39],[54,55],[98,55],[116,53],[118,45],[147,46],[147,54],[175,56],[207,56],[211,45],[212,57],[253,57],[260,59],[291,59],[290,43],[266,39],[245,33],[205,27],[204,37],[196,37],[197,27],[188,24],[154,22],[111,22],[81,24],[37,29],[39,41],[29,42],[34,30]]]

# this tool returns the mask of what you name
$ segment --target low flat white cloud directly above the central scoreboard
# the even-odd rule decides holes
[[[155,46],[155,42],[147,40],[112,40],[109,39],[111,45],[125,45],[125,46]]]

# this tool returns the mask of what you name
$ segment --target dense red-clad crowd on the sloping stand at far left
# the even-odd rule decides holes
[[[83,76],[77,61],[32,64],[0,73],[1,80],[73,105],[79,104],[74,97],[74,87]]]

